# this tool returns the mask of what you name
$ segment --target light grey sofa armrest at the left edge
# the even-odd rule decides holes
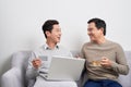
[[[22,71],[12,67],[1,76],[1,87],[24,87]]]

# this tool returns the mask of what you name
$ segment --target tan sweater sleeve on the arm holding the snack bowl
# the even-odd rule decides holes
[[[127,64],[127,59],[123,52],[123,49],[120,45],[118,45],[116,49],[116,61],[112,61],[111,67],[119,74],[127,75],[129,73],[129,66]]]

